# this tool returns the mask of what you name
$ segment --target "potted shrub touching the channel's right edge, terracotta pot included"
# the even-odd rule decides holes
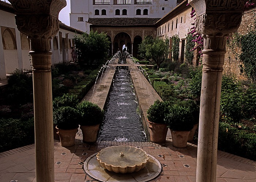
[[[150,141],[154,143],[165,143],[168,125],[164,118],[167,114],[169,104],[156,100],[147,110],[147,121],[150,129]]]

